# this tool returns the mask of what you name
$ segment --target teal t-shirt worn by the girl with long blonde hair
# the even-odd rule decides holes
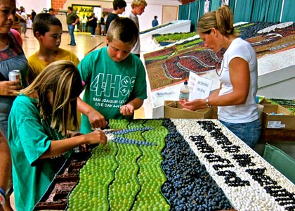
[[[58,158],[39,159],[50,147],[51,140],[58,139],[63,136],[41,120],[36,99],[22,94],[15,98],[8,118],[8,143],[16,210],[33,210],[65,163],[68,153]]]

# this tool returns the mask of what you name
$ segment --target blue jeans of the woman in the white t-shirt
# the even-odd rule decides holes
[[[221,120],[219,121],[251,148],[254,148],[258,142],[261,133],[259,119],[247,123],[228,123]]]

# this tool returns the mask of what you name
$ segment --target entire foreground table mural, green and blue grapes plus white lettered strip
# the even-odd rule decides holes
[[[295,185],[218,120],[110,120],[105,133],[34,210],[295,209]]]

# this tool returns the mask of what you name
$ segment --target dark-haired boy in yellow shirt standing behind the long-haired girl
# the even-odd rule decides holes
[[[39,41],[39,50],[29,56],[28,81],[32,81],[55,60],[70,60],[75,65],[79,64],[79,58],[74,53],[60,49],[63,27],[60,20],[49,13],[36,15],[33,24],[34,37]]]

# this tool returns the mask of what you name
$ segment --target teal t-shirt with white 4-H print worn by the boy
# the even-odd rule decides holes
[[[145,67],[132,53],[118,63],[108,56],[105,47],[85,56],[78,69],[86,84],[83,100],[107,120],[124,118],[121,106],[134,98],[147,98]],[[82,115],[81,132],[91,131],[88,117]]]

